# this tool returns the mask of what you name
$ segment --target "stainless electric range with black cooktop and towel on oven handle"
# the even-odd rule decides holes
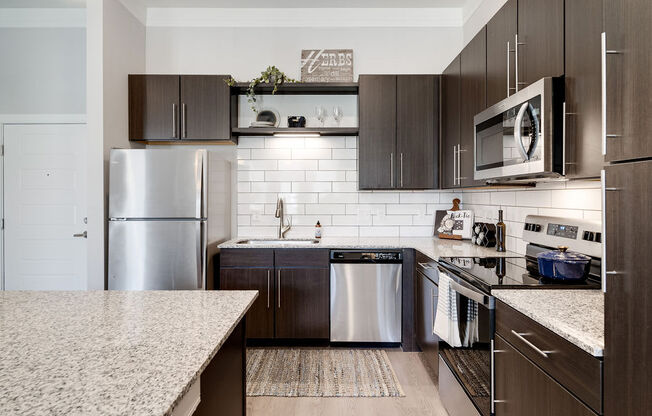
[[[602,230],[599,222],[527,216],[524,255],[442,257],[435,267],[420,270],[440,286],[438,302],[446,303],[452,323],[440,336],[439,390],[451,416],[493,416],[493,341],[497,289],[600,289]],[[591,256],[588,279],[563,282],[539,275],[537,255],[567,246]],[[423,265],[420,265],[423,267]],[[433,274],[436,274],[434,278]],[[442,277],[445,276],[445,277]],[[442,292],[442,287],[447,290]],[[437,310],[439,313],[439,310]],[[439,328],[442,328],[441,326]],[[438,325],[434,325],[433,332]]]

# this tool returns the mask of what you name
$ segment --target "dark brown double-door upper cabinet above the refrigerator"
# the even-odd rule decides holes
[[[226,75],[129,75],[129,140],[231,140]]]

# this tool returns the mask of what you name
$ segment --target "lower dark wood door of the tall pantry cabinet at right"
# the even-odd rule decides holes
[[[605,415],[652,409],[652,161],[608,166],[605,182]],[[636,213],[632,216],[628,213]]]

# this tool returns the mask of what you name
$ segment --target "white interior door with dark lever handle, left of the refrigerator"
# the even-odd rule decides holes
[[[86,126],[4,127],[5,289],[86,289]]]

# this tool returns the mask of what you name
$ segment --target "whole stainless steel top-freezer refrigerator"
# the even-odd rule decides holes
[[[109,169],[109,289],[204,289],[207,152],[114,149]]]

